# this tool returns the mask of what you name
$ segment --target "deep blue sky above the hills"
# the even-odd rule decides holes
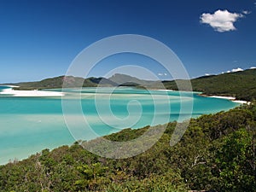
[[[0,83],[63,75],[90,44],[121,34],[166,44],[190,78],[244,70],[256,66],[255,23],[256,0],[0,0]],[[110,56],[89,74],[105,76],[122,65],[172,79],[157,61],[137,54]]]

